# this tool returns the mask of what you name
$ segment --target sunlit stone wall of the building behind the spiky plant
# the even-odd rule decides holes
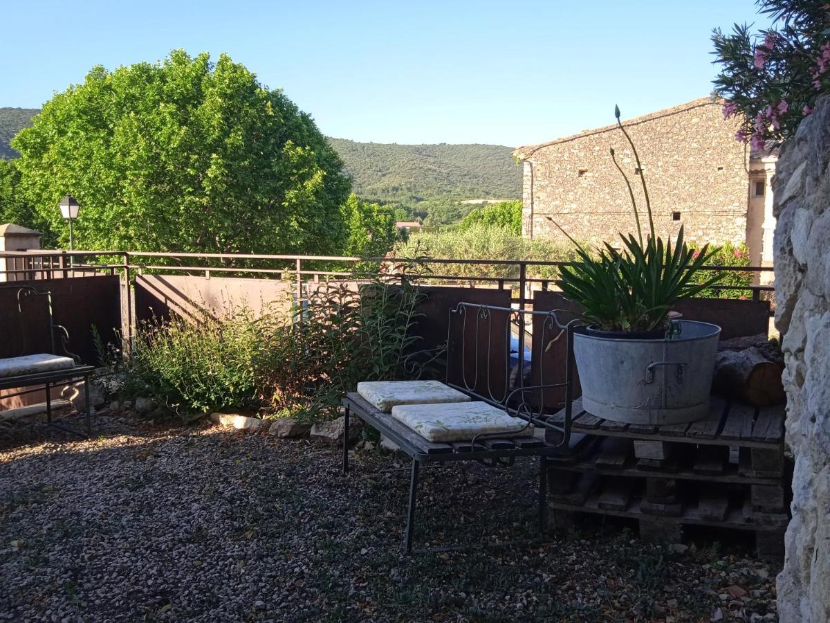
[[[745,242],[747,155],[735,141],[735,120],[724,120],[719,104],[706,98],[624,125],[637,145],[659,234],[674,236],[682,224],[689,240]],[[634,231],[631,201],[611,147],[645,210],[632,151],[622,132],[608,126],[515,151],[525,160],[525,235],[532,230],[534,238],[564,242],[546,217],[591,243],[617,242],[619,232]],[[676,212],[679,220],[673,219]]]

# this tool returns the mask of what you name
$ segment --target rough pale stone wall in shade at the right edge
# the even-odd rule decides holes
[[[781,621],[830,621],[830,97],[781,150],[774,179],[775,324],[784,336],[793,520]]]

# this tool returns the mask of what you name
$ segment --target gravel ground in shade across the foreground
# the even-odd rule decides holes
[[[0,438],[2,621],[776,621],[745,544],[578,534],[403,555],[408,465],[101,415]],[[535,537],[534,463],[422,469],[420,547]]]

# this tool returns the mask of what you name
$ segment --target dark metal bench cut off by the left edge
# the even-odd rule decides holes
[[[92,434],[92,423],[90,413],[90,384],[89,379],[95,370],[93,365],[84,365],[81,358],[71,353],[67,344],[69,343],[69,332],[66,327],[55,324],[52,315],[51,292],[39,292],[31,286],[5,286],[4,288],[17,289],[17,314],[20,321],[21,335],[27,335],[27,325],[24,321],[23,301],[28,297],[44,297],[46,300],[46,326],[42,327],[47,336],[48,344],[51,345],[48,353],[21,353],[20,356],[0,358],[0,390],[14,390],[19,388],[31,388],[32,385],[42,385],[35,389],[24,389],[11,394],[3,395],[3,398],[12,398],[18,395],[31,394],[36,391],[46,391],[46,422],[53,428],[61,429],[66,433],[76,434],[82,438],[88,438]],[[14,327],[17,329],[17,327]],[[12,331],[12,322],[4,327],[5,331]],[[56,346],[56,334],[59,336],[61,353]],[[24,351],[27,350],[24,348]],[[66,428],[52,421],[51,388],[54,386],[68,385],[76,380],[84,382],[85,397],[85,428],[86,434]]]

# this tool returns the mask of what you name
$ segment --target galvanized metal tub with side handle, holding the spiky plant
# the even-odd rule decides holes
[[[574,333],[582,405],[628,424],[680,424],[709,414],[720,326],[675,321],[679,335],[629,340]]]

